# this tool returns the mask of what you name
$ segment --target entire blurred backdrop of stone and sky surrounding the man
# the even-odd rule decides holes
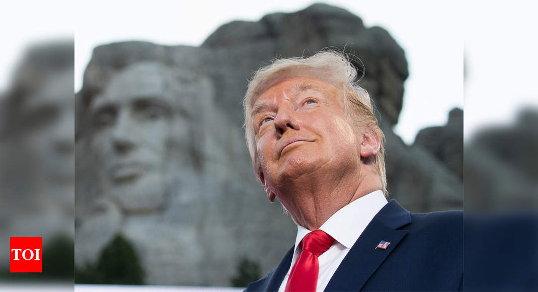
[[[0,20],[20,24],[0,54],[0,243],[44,237],[43,275],[10,274],[5,253],[2,281],[245,287],[265,275],[296,227],[253,175],[240,102],[261,65],[329,47],[350,54],[376,104],[390,198],[415,212],[465,202],[476,287],[536,287],[532,4],[47,3]],[[526,261],[490,262],[519,251],[514,238]],[[484,241],[497,244],[472,248]]]

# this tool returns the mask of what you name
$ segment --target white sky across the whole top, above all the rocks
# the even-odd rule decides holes
[[[314,1],[308,0],[11,3],[4,6],[3,18],[0,19],[2,27],[16,27],[16,30],[3,30],[6,37],[0,48],[0,90],[4,90],[8,84],[10,69],[20,57],[21,49],[32,41],[75,35],[76,92],[81,88],[83,70],[90,59],[91,50],[97,45],[145,40],[162,45],[199,46],[224,23],[232,20],[256,21],[267,13],[294,12],[312,3]],[[490,2],[479,1],[465,5],[457,1],[342,0],[325,3],[351,11],[361,17],[367,27],[384,27],[404,48],[410,75],[405,84],[400,122],[394,130],[408,144],[413,143],[420,129],[445,124],[450,109],[463,107],[464,41],[468,66],[465,87],[466,134],[476,128],[474,125],[492,123],[497,119],[508,120],[506,117],[513,116],[521,98],[536,99],[536,95],[529,94],[536,91],[534,88],[504,86],[518,82],[532,84],[530,74],[525,75],[525,82],[518,80],[520,75],[511,74],[524,70],[530,72],[536,68],[536,63],[527,68],[528,58],[527,62],[522,60],[525,53],[530,55],[537,51],[534,43],[525,44],[522,48],[512,45],[523,34],[528,37],[531,29],[527,28],[527,32],[515,28],[502,29],[507,23],[519,25],[533,19],[533,9],[529,7],[514,5],[514,13],[506,13],[511,11],[506,6],[486,5]],[[29,6],[32,9],[27,9]],[[488,13],[483,13],[484,7],[487,7]],[[495,13],[503,12],[503,21],[498,21]],[[486,19],[486,22],[474,21],[477,16]],[[497,38],[508,41],[497,42]],[[495,46],[492,47],[491,42]],[[506,55],[504,49],[518,53]],[[533,58],[531,63],[536,61],[536,57]],[[485,95],[506,96],[508,93],[510,98],[502,107],[503,111],[498,107],[493,108],[498,104],[484,104],[483,99],[479,98]]]

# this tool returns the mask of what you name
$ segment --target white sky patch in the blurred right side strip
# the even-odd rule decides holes
[[[484,126],[512,123],[522,108],[538,110],[538,3],[470,3],[464,42],[465,139]]]

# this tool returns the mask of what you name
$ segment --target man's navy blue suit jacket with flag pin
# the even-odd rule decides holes
[[[390,242],[386,250],[377,248]],[[246,291],[277,291],[293,247]],[[456,291],[463,286],[463,212],[410,213],[388,202],[360,234],[325,291]]]

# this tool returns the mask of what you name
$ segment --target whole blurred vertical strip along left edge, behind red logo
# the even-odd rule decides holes
[[[74,16],[68,2],[4,5],[0,27],[0,290],[72,289]],[[43,237],[44,272],[10,273],[10,237]],[[43,283],[47,283],[44,286]]]

